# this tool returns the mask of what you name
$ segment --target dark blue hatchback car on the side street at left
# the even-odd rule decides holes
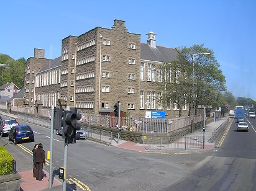
[[[21,141],[35,141],[35,136],[32,128],[29,125],[16,125],[11,128],[8,133],[9,140],[17,144]]]

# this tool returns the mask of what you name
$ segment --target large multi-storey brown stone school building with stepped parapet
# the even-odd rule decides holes
[[[35,49],[25,68],[25,100],[44,108],[58,99],[83,113],[110,113],[117,101],[127,117],[145,117],[147,111],[165,111],[167,118],[178,116],[178,108],[163,105],[162,64],[175,60],[175,48],[157,46],[156,34],[149,32],[147,43],[140,34],[130,33],[125,22],[114,20],[111,29],[96,27],[78,37],[62,40],[62,55],[45,58]],[[188,109],[183,108],[183,113]]]

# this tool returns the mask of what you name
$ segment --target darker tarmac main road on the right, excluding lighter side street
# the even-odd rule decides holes
[[[221,146],[165,190],[256,190],[256,119],[245,122],[248,133],[234,120]]]

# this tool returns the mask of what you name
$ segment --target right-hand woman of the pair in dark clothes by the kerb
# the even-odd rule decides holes
[[[43,180],[43,164],[45,163],[45,151],[43,144],[39,143],[38,149],[35,149],[35,179]]]

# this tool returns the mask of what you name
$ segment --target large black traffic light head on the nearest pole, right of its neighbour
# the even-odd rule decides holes
[[[68,143],[76,143],[76,130],[80,130],[80,124],[77,123],[77,120],[80,119],[81,114],[77,113],[76,108],[64,111],[62,138],[68,138]]]

